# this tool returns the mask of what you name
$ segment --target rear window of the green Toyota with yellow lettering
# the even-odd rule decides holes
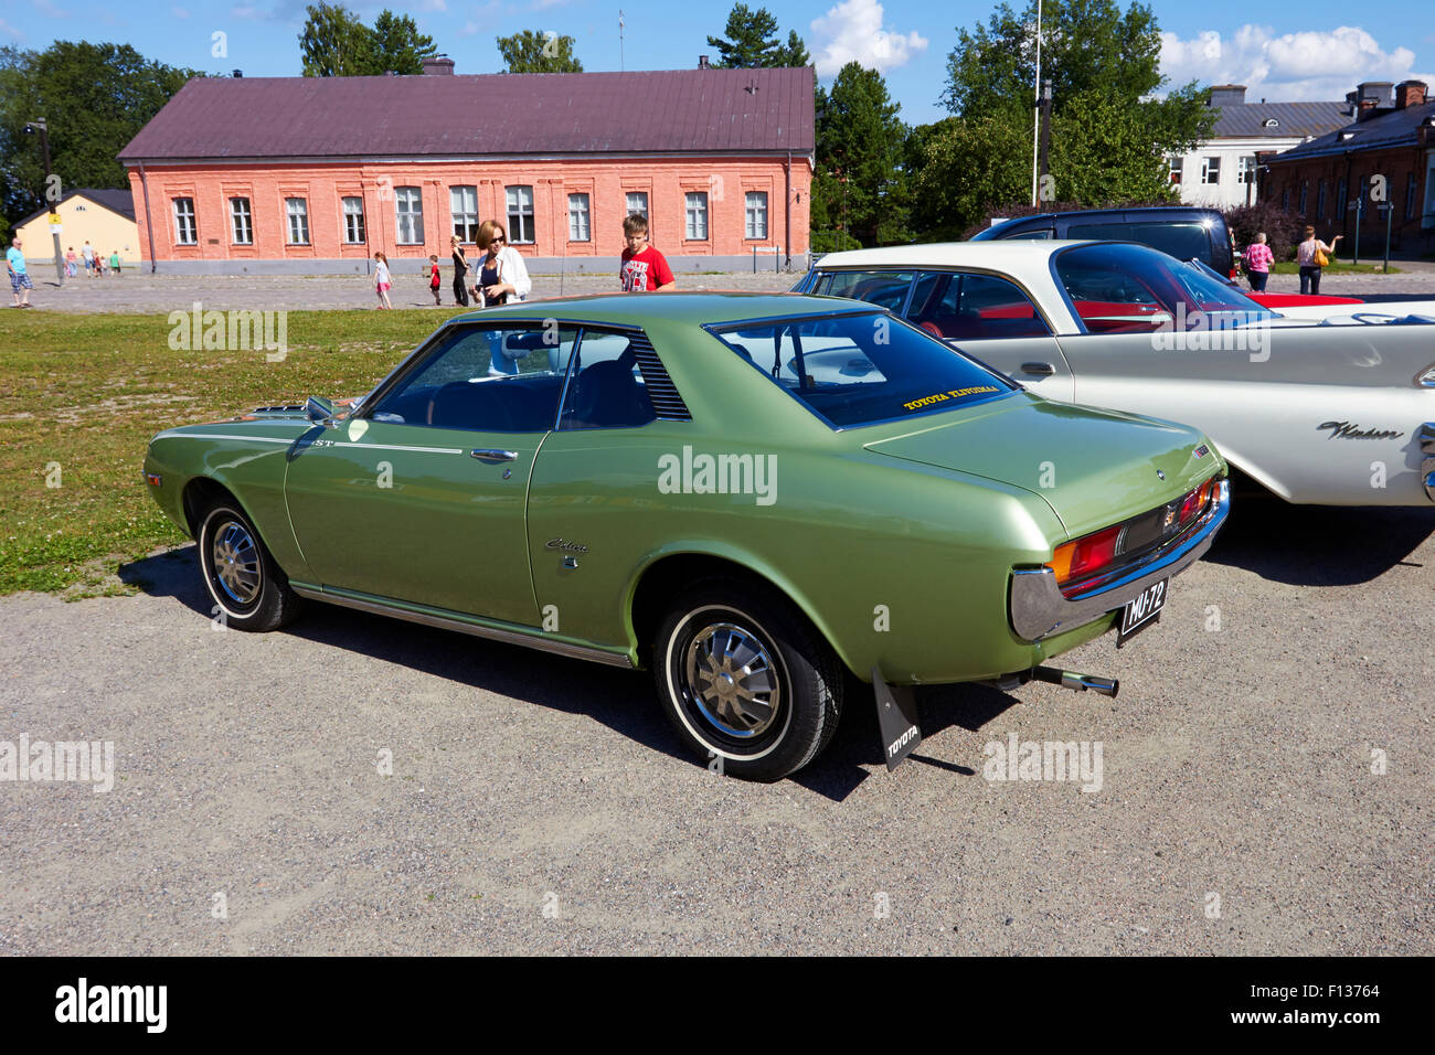
[[[710,332],[832,428],[951,411],[1016,388],[885,311]]]

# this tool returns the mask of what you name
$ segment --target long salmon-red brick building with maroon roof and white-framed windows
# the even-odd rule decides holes
[[[811,69],[199,78],[121,152],[145,260],[188,273],[448,260],[498,220],[530,264],[674,270],[808,251]]]

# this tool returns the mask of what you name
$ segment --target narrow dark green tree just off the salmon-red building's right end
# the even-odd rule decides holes
[[[897,194],[907,128],[877,70],[850,62],[832,90],[817,93],[814,227],[845,227],[865,244],[900,241],[905,215]]]

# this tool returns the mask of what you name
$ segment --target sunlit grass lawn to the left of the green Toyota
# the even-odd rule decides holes
[[[0,311],[0,594],[123,593],[185,538],[145,492],[149,438],[310,395],[359,396],[448,313],[290,311],[288,355],[175,352],[164,314]]]

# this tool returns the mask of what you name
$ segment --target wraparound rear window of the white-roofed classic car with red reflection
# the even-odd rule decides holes
[[[1274,319],[1217,274],[1148,248],[1121,243],[1058,253],[1056,277],[1089,332],[1131,332],[1157,323],[1205,329]]]

